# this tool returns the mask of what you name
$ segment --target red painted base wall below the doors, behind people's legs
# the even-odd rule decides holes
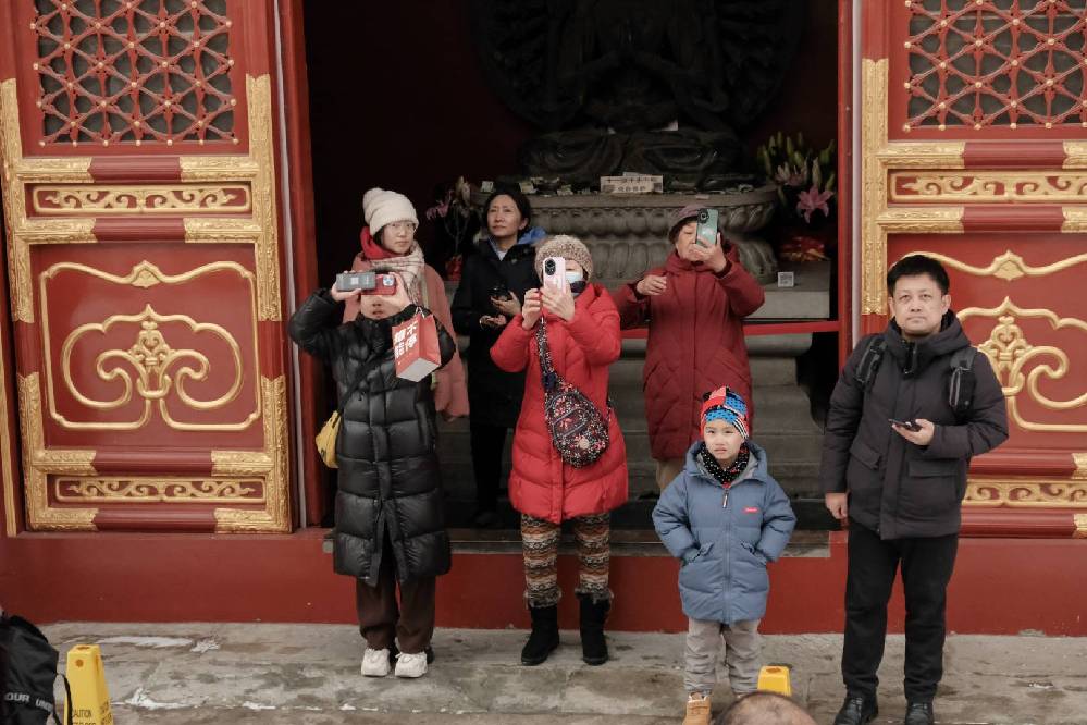
[[[0,603],[39,623],[354,623],[354,583],[332,573],[321,530],[293,536],[22,534],[0,539]],[[827,557],[785,558],[770,569],[767,634],[841,631],[845,534]],[[1084,539],[963,539],[948,626],[959,634],[1087,636]],[[456,554],[438,579],[442,627],[528,627],[519,554]],[[577,627],[577,562],[563,556],[560,624]],[[677,563],[615,556],[608,627],[682,631]],[[901,591],[890,629],[902,631]]]

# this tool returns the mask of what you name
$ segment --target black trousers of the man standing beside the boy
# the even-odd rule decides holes
[[[842,678],[851,695],[874,697],[887,637],[887,602],[902,566],[905,593],[905,696],[929,701],[943,677],[944,609],[958,534],[884,541],[850,519]]]

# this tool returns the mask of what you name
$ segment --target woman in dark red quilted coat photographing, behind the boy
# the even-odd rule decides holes
[[[674,217],[668,239],[676,248],[664,267],[613,292],[625,329],[650,321],[642,378],[662,491],[699,439],[702,395],[727,385],[752,400],[743,318],[763,306],[765,293],[720,234],[716,246],[695,244],[701,210],[689,206]]]

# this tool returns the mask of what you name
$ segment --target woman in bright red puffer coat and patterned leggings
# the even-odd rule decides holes
[[[491,357],[507,372],[527,371],[524,400],[514,434],[514,468],[509,500],[521,513],[524,550],[524,598],[532,616],[532,635],[521,662],[535,665],[558,647],[559,525],[573,519],[580,561],[582,658],[589,664],[607,661],[604,620],[610,609],[608,557],[609,512],[627,501],[627,452],[615,414],[608,411],[608,366],[619,358],[619,314],[607,291],[589,284],[593,260],[580,241],[555,236],[536,250],[536,272],[548,257],[561,257],[567,284],[559,291],[530,290],[521,314],[506,325]],[[566,464],[552,444],[544,418],[544,391],[536,327],[546,320],[547,346],[555,371],[580,390],[608,417],[609,444],[603,455],[582,468]]]

